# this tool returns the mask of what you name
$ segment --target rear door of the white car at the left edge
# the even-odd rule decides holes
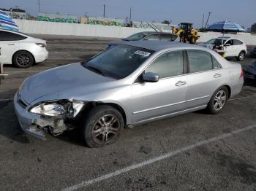
[[[11,64],[12,55],[20,50],[20,40],[26,39],[11,31],[0,31],[1,63]]]

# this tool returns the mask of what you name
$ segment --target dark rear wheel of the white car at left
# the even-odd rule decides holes
[[[18,68],[29,68],[34,63],[34,57],[26,51],[18,51],[13,55],[12,63]]]

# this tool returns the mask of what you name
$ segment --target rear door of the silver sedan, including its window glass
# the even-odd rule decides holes
[[[186,109],[206,106],[222,82],[222,67],[209,52],[187,50],[187,103]]]

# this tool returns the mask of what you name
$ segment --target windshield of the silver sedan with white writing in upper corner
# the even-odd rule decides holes
[[[153,52],[153,50],[119,44],[82,65],[103,76],[122,79],[138,69]]]

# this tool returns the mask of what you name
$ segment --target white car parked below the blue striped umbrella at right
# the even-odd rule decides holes
[[[242,40],[226,36],[220,36],[199,45],[211,49],[223,46],[223,49],[225,50],[225,58],[236,57],[238,61],[243,61],[247,53],[246,44]]]

